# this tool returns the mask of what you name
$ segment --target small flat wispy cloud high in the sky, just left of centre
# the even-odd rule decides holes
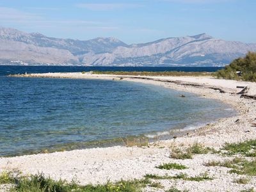
[[[131,3],[77,3],[75,6],[92,11],[109,11],[124,8],[136,8],[140,7],[141,5]]]

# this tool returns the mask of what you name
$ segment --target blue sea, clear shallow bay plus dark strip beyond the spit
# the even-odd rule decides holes
[[[127,138],[168,139],[176,132],[236,115],[218,100],[151,84],[9,74],[219,69],[0,65],[0,156],[123,145]]]

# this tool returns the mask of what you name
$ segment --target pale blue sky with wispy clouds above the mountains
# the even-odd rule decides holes
[[[207,33],[256,43],[255,0],[0,0],[0,26],[126,44]]]

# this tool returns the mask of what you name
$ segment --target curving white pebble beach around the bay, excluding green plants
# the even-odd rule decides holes
[[[205,181],[206,183],[184,180],[164,181],[165,189],[175,184],[179,189],[193,189],[193,191],[202,191],[202,189],[207,191],[212,190],[212,188],[216,191],[239,191],[244,187],[252,188],[256,185],[256,179],[253,177],[251,184],[237,186],[231,182],[237,175],[227,173],[227,168],[202,166],[210,159],[223,159],[216,154],[201,154],[196,155],[193,159],[185,160],[170,159],[169,157],[170,146],[172,145],[188,146],[198,142],[205,147],[219,149],[226,142],[237,143],[255,139],[256,130],[255,127],[252,127],[252,123],[256,122],[256,100],[241,98],[241,95],[236,94],[241,89],[236,89],[236,86],[250,86],[252,92],[249,94],[253,95],[253,91],[256,90],[256,83],[211,79],[209,77],[132,77],[82,73],[31,74],[18,77],[91,78],[156,84],[166,88],[196,93],[200,97],[218,99],[232,105],[238,113],[237,116],[221,118],[218,122],[196,129],[189,135],[159,141],[157,146],[150,146],[149,148],[115,146],[54,152],[52,154],[0,157],[0,170],[12,170],[14,168],[25,173],[43,172],[53,179],[62,178],[69,181],[76,176],[81,184],[102,184],[108,179],[113,182],[120,179],[141,179],[147,173],[175,174],[178,172],[177,170],[167,171],[155,168],[158,164],[171,161],[189,166],[189,170],[184,171],[184,173],[198,175],[208,171],[215,179]],[[221,177],[225,177],[225,179],[221,179]],[[223,186],[224,181],[228,183],[225,186]]]

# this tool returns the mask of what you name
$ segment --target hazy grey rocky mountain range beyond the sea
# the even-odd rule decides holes
[[[256,44],[202,33],[127,45],[117,38],[73,40],[0,27],[0,65],[223,66]]]

